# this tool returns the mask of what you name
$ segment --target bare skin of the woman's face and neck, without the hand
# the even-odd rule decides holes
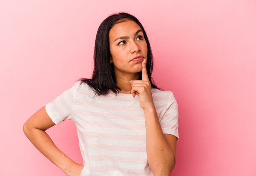
[[[130,80],[138,80],[139,72],[142,71],[142,61],[133,62],[135,56],[142,55],[147,60],[148,48],[143,32],[139,25],[127,20],[116,24],[109,31],[110,62],[114,65],[117,86],[121,88],[120,93],[131,94]],[[118,39],[121,36],[128,36],[128,39]]]

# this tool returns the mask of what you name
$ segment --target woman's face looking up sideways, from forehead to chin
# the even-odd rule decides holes
[[[124,38],[120,38],[124,37]],[[115,73],[137,73],[142,71],[142,61],[147,61],[148,48],[143,32],[139,25],[127,20],[114,25],[109,31],[110,53]],[[131,61],[142,55],[140,61]]]

